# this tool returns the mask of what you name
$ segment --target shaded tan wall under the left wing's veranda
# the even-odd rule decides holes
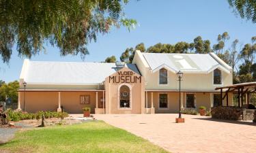
[[[23,92],[19,92],[20,107],[23,109]],[[81,95],[90,95],[90,104],[80,104]],[[102,107],[98,92],[98,107]],[[57,111],[59,92],[26,92],[25,109],[27,112]],[[91,107],[94,114],[96,107],[96,92],[61,92],[61,106],[68,113],[83,113],[83,107]]]

